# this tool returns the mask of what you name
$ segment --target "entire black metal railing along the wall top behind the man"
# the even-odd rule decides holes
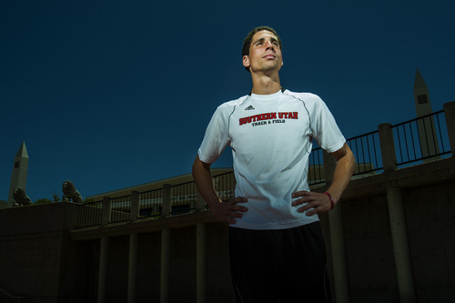
[[[398,167],[419,164],[450,154],[449,134],[443,111],[392,126],[392,135]],[[356,157],[354,176],[379,173],[383,170],[379,131],[349,138],[347,144]],[[308,161],[308,185],[323,184],[325,182],[323,150],[320,147],[314,148]],[[235,196],[236,179],[233,172],[214,176],[213,183],[223,201]],[[197,190],[194,181],[175,185],[170,189],[171,215],[197,209]],[[162,217],[162,188],[139,193],[138,198],[139,218]],[[131,195],[112,198],[111,212],[110,223],[129,220]],[[81,204],[78,207],[76,228],[101,224],[102,201]]]

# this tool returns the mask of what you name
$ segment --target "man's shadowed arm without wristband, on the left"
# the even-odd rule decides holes
[[[218,197],[210,174],[210,164],[202,162],[199,156],[196,157],[193,163],[193,178],[199,194],[207,202],[210,211],[218,220],[235,224],[236,218],[243,217],[243,213],[248,211],[247,207],[237,205],[238,203],[247,202],[248,199],[246,197],[235,197],[228,202],[223,202]]]

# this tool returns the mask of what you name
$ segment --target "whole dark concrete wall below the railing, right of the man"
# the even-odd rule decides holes
[[[389,187],[399,187],[402,194],[415,298],[419,302],[455,301],[453,160],[354,180],[349,186],[341,210],[350,302],[400,301],[386,195]]]

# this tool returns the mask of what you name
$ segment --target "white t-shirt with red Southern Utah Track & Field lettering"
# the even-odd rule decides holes
[[[293,192],[309,190],[311,138],[329,153],[346,142],[329,108],[313,94],[252,94],[217,107],[198,156],[213,163],[226,146],[232,148],[235,196],[248,198],[248,212],[233,227],[282,229],[319,220],[291,206]]]

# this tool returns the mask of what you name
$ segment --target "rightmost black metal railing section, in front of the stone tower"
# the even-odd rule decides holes
[[[406,167],[450,154],[444,111],[392,126],[397,166]]]

